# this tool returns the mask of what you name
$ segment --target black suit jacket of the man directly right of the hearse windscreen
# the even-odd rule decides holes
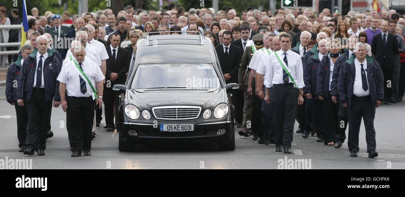
[[[229,51],[228,51],[228,60],[225,59],[224,54],[224,46],[218,45],[215,47],[217,51],[218,59],[220,60],[222,74],[230,74],[231,78],[226,82],[228,83],[238,83],[238,73],[239,73],[239,65],[241,64],[241,50],[239,47],[230,44]]]

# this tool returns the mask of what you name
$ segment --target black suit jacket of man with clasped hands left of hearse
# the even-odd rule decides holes
[[[114,81],[111,81],[111,85],[116,84],[124,85],[126,81],[126,73],[128,72],[130,63],[130,55],[128,54],[128,50],[122,47],[118,47],[117,57],[115,61],[113,60],[113,55],[111,54],[111,45],[106,47],[106,50],[109,57],[106,60],[107,63],[107,71],[105,73],[106,80],[111,80],[110,74],[115,72],[118,74],[118,78]]]

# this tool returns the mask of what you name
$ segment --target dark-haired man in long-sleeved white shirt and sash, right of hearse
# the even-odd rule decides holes
[[[283,145],[284,153],[291,154],[292,136],[296,107],[302,105],[303,99],[303,66],[301,57],[290,50],[291,36],[280,36],[281,50],[264,58],[264,65],[268,67],[266,74],[266,100],[267,104],[273,104],[273,126],[276,137],[276,152],[281,152]],[[271,94],[270,94],[271,88]],[[298,88],[298,92],[297,92]]]

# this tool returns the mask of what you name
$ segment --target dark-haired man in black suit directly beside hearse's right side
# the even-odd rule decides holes
[[[247,32],[249,35],[249,32]],[[225,82],[238,83],[239,65],[241,64],[241,49],[230,43],[232,32],[224,32],[223,43],[215,47]],[[235,120],[243,121],[243,91],[236,91],[232,96],[232,104],[235,106]]]

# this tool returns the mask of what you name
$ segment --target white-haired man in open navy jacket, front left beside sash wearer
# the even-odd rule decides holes
[[[31,53],[21,68],[18,77],[17,103],[20,107],[27,106],[28,125],[26,150],[24,155],[45,155],[48,131],[47,121],[49,108],[59,107],[59,84],[56,81],[61,69],[59,60],[48,49],[47,36],[36,38],[37,50]]]

